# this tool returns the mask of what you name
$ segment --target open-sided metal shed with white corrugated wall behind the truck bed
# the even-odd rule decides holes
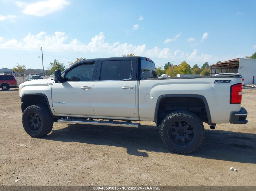
[[[212,64],[210,66],[210,76],[219,73],[239,73],[244,77],[245,84],[255,84],[256,59],[236,58]]]

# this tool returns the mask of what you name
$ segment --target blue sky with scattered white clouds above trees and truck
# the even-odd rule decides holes
[[[135,53],[156,66],[256,51],[256,1],[0,0],[0,68]]]

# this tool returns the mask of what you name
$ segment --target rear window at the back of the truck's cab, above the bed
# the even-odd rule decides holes
[[[141,79],[156,78],[156,68],[153,62],[141,60]]]

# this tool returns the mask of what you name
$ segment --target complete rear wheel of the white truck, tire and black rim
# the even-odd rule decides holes
[[[171,151],[188,154],[197,150],[204,141],[204,126],[194,113],[175,111],[161,123],[160,135]]]

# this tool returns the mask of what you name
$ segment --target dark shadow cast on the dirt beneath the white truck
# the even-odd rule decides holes
[[[64,129],[53,129],[50,135],[42,138],[123,147],[127,149],[128,154],[144,157],[148,157],[144,151],[172,153],[162,143],[159,130],[155,126],[141,125],[140,128],[129,128],[69,124]],[[201,148],[188,155],[256,164],[256,134],[206,129]]]

